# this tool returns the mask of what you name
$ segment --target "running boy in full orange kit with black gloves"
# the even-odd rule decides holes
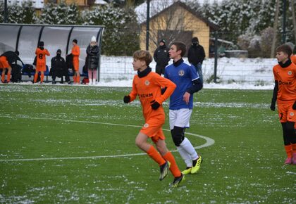
[[[148,51],[135,51],[133,58],[132,65],[134,70],[137,70],[137,75],[132,82],[132,91],[128,96],[124,96],[123,101],[130,103],[139,96],[142,104],[145,123],[137,134],[135,144],[159,164],[161,172],[159,180],[166,177],[168,169],[171,170],[175,177],[172,186],[176,187],[181,181],[185,180],[185,177],[180,172],[173,154],[166,148],[164,132],[161,129],[165,120],[164,108],[161,103],[173,94],[175,84],[152,72],[152,69],[149,68],[152,56]],[[161,87],[167,87],[163,95],[161,95]],[[147,143],[148,138],[152,139],[156,148]]]

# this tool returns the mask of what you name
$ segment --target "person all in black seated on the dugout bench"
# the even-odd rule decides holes
[[[51,58],[51,70],[49,75],[52,76],[52,84],[56,84],[56,77],[60,77],[61,83],[63,83],[63,76],[65,76],[66,82],[70,84],[68,68],[65,59],[61,56],[61,49],[58,49],[56,51],[56,56]]]

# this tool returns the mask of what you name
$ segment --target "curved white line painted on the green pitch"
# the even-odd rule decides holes
[[[113,125],[113,126],[123,126],[123,127],[140,127],[138,125],[123,125],[123,124],[115,124],[115,123],[109,123],[109,122],[91,122],[91,121],[81,121],[81,120],[64,120],[64,119],[58,119],[58,118],[42,118],[42,117],[11,117],[6,115],[0,115],[0,117],[10,117],[10,118],[24,118],[24,119],[31,119],[31,120],[57,120],[57,121],[63,121],[63,122],[80,122],[80,123],[88,123],[88,124],[99,124],[99,125]],[[169,129],[163,129],[164,131],[171,132]],[[200,146],[195,146],[195,149],[204,148],[207,146],[214,145],[215,141],[214,139],[211,139],[207,136],[202,136],[199,134],[193,134],[190,132],[186,132],[186,134],[197,136],[199,138],[202,138],[206,140],[205,144],[202,144]],[[172,152],[176,152],[172,151]],[[30,159],[11,159],[11,160],[0,160],[0,162],[18,162],[18,161],[37,161],[37,160],[81,160],[81,159],[97,159],[97,158],[119,158],[119,157],[129,157],[129,156],[136,156],[136,155],[146,155],[146,153],[134,153],[134,154],[125,154],[125,155],[101,155],[101,156],[89,156],[89,157],[68,157],[68,158],[30,158]]]

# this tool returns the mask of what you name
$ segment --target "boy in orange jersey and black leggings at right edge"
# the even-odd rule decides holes
[[[287,44],[278,46],[276,58],[278,65],[273,67],[275,86],[271,100],[271,110],[276,109],[283,127],[283,140],[287,158],[285,165],[296,165],[296,65],[290,60],[292,49]]]

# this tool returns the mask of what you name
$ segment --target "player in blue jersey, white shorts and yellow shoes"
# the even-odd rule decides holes
[[[168,51],[173,64],[166,67],[164,77],[177,85],[170,97],[169,117],[173,142],[187,165],[182,173],[195,174],[202,163],[202,156],[197,154],[189,139],[185,137],[185,129],[190,126],[193,93],[202,89],[202,82],[195,67],[184,63],[182,57],[185,52],[186,46],[183,42],[173,42]]]

